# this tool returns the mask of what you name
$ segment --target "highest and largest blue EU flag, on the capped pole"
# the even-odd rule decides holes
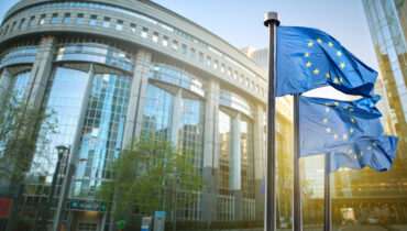
[[[309,28],[277,26],[276,97],[323,86],[371,97],[377,73],[329,34]]]

